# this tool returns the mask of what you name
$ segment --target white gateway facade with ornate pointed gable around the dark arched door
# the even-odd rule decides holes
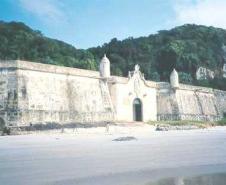
[[[156,86],[148,84],[139,69],[130,72],[130,77],[115,77],[110,84],[110,93],[118,121],[134,121],[133,102],[142,103],[142,121],[156,120]]]

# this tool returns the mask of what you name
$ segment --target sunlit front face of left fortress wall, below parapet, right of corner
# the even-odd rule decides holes
[[[103,81],[95,78],[19,70],[20,123],[100,122],[112,120]]]

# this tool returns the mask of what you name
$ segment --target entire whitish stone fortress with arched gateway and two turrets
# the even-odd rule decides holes
[[[99,72],[0,61],[0,124],[5,126],[219,120],[225,113],[225,91],[179,84],[176,70],[168,83],[145,80],[138,65],[127,78],[111,76],[106,56]]]

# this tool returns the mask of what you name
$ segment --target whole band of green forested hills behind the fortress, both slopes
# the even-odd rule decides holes
[[[226,62],[226,30],[184,25],[169,31],[159,31],[148,37],[116,38],[103,46],[88,50],[76,49],[64,42],[47,38],[23,23],[0,22],[0,58],[22,59],[84,69],[98,69],[104,53],[111,61],[114,75],[127,76],[135,64],[141,66],[146,79],[168,81],[173,68],[179,71],[180,81],[226,90],[222,66]],[[213,80],[197,81],[200,66],[213,70]]]

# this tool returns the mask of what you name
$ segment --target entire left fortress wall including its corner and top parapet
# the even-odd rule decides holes
[[[1,103],[7,106],[1,117],[7,118],[8,124],[114,120],[111,100],[106,96],[107,83],[99,78],[98,72],[24,61],[1,65],[2,70],[12,68],[5,80],[1,78],[2,85],[0,82],[0,93],[2,88],[4,95],[0,96],[4,99]],[[10,115],[5,116],[7,110]]]

